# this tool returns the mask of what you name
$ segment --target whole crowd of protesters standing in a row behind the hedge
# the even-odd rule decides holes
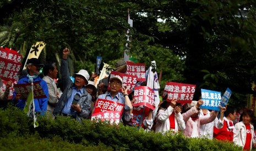
[[[65,116],[74,118],[82,123],[81,119],[90,119],[94,111],[95,103],[98,99],[105,99],[121,103],[124,110],[120,121],[124,125],[135,126],[145,131],[166,133],[182,132],[186,137],[204,137],[229,141],[250,150],[255,147],[254,126],[252,120],[254,113],[250,109],[244,109],[238,123],[236,119],[236,108],[232,106],[221,107],[220,111],[209,111],[200,108],[203,100],[192,101],[182,106],[176,99],[167,101],[166,98],[155,107],[154,112],[145,106],[133,106],[134,91],[128,94],[127,86],[122,86],[123,79],[118,75],[108,76],[97,86],[94,86],[94,78],[85,69],[80,69],[75,73],[74,82],[70,79],[68,68],[69,49],[64,49],[61,61],[61,82],[56,84],[57,67],[55,62],[46,62],[44,65],[35,58],[29,59],[26,63],[26,72],[19,78],[18,84],[28,84],[39,82],[45,98],[35,98],[35,112],[47,115],[50,118]],[[40,69],[43,67],[43,75],[39,76]],[[126,62],[120,60],[115,68],[116,72],[126,73]],[[110,84],[109,89],[108,83]],[[0,89],[0,99],[7,100],[9,88],[13,85],[7,82],[6,90]],[[0,87],[2,80],[0,80]],[[97,87],[97,88],[96,88]],[[60,88],[60,89],[59,89]],[[121,91],[120,91],[121,90]],[[26,98],[18,92],[13,92],[12,103],[20,109],[24,109]],[[255,124],[255,123],[254,123]]]

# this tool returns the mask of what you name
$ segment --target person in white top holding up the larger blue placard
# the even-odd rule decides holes
[[[223,118],[224,118],[224,112],[226,111],[226,107],[221,107],[220,111],[220,119],[215,119],[214,121],[208,123],[208,124],[203,124],[200,126],[200,136],[199,137],[206,137],[209,138],[210,140],[213,140],[213,131],[214,131],[214,126],[217,127],[218,129],[221,129],[223,126]],[[210,117],[211,112],[208,109],[201,108],[199,117]]]

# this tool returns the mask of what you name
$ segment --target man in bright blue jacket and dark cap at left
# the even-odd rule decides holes
[[[35,112],[40,113],[41,115],[44,115],[46,113],[47,109],[47,102],[48,102],[48,87],[46,82],[39,77],[40,69],[44,65],[36,58],[31,58],[27,61],[26,70],[28,71],[28,74],[26,77],[21,78],[18,81],[18,84],[28,84],[28,83],[34,83],[39,82],[43,92],[46,95],[46,98],[34,98],[35,103]],[[24,109],[26,98],[22,98],[21,94],[17,94],[17,92],[14,91],[13,93],[13,103],[20,108],[21,110]]]

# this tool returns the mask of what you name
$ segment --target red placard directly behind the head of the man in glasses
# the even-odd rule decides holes
[[[110,73],[110,78],[116,77],[116,75],[119,75],[123,79],[123,85],[122,86],[127,86],[128,88],[128,94],[132,92],[132,89],[135,87],[135,84],[137,83],[137,78],[134,75],[129,75],[129,74],[124,74],[120,72],[115,72],[112,71]],[[110,90],[110,82],[108,83],[108,90]],[[120,92],[122,89],[119,90]]]

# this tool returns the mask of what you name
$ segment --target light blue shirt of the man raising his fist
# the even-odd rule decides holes
[[[74,96],[75,96],[75,94],[79,94],[81,96],[83,94],[83,92],[84,92],[84,88],[78,90],[75,86],[73,86],[72,94],[70,95],[67,103],[63,107],[62,113],[75,115],[76,112],[71,108],[72,102],[74,100]]]

